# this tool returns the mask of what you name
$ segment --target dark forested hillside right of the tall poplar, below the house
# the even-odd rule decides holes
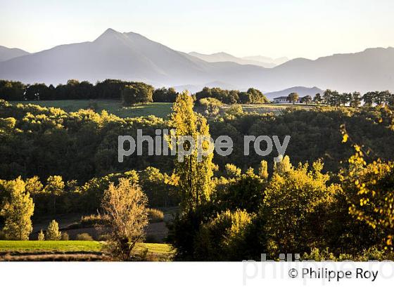
[[[379,119],[382,123],[379,124]],[[230,136],[234,142],[233,152],[227,157],[215,155],[214,162],[222,169],[232,163],[243,170],[249,166],[258,169],[261,157],[255,154],[250,145],[250,156],[243,156],[243,136],[277,135],[283,141],[286,135],[291,140],[286,155],[293,163],[309,162],[317,159],[324,162],[324,171],[338,172],[350,155],[352,147],[341,143],[339,131],[345,124],[356,143],[365,145],[374,151],[371,157],[393,159],[394,130],[390,112],[385,109],[352,109],[335,107],[317,107],[311,110],[286,110],[274,114],[224,114],[210,123],[212,138],[220,135]],[[274,149],[271,155],[264,157],[272,169]]]

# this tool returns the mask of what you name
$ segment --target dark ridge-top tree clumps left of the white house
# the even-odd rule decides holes
[[[0,98],[8,101],[23,100],[82,100],[82,99],[112,99],[122,100],[125,105],[135,103],[167,102],[173,103],[177,98],[174,88],[158,88],[142,82],[106,79],[91,84],[89,81],[70,79],[66,84],[44,83],[23,84],[20,81],[0,80]],[[222,103],[253,104],[266,103],[267,98],[257,89],[248,91],[227,91],[219,88],[205,87],[196,93],[195,98],[217,98]]]

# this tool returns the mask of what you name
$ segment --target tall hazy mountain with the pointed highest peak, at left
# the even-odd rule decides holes
[[[207,63],[135,33],[106,30],[92,42],[61,45],[0,64],[0,78],[52,84],[106,78],[179,84],[205,77]],[[202,79],[203,80],[203,79]]]

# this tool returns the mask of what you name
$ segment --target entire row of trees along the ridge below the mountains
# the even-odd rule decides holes
[[[44,83],[23,84],[20,81],[0,80],[0,98],[8,101],[16,100],[77,100],[77,99],[113,99],[122,100],[125,105],[150,102],[173,103],[178,93],[174,88],[158,88],[143,82],[122,81],[106,79],[91,84],[89,81],[70,79],[66,84]],[[220,88],[204,87],[193,95],[195,100],[212,98],[224,104],[262,104],[268,103],[266,96],[258,89],[250,88],[247,91],[226,90]],[[369,91],[363,95],[360,92],[339,93],[326,89],[323,94],[300,97],[298,93],[290,93],[288,100],[291,103],[315,103],[331,106],[359,107],[372,105],[394,105],[394,94],[390,91]]]

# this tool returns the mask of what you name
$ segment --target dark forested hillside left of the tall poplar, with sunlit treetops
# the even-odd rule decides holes
[[[145,169],[153,162],[165,171],[172,167],[172,157],[149,156],[147,145],[138,161],[134,153],[123,163],[117,162],[117,136],[136,138],[137,129],[143,129],[144,135],[154,137],[155,129],[167,128],[160,118],[121,119],[106,112],[66,113],[60,109],[0,101],[0,119],[2,178],[20,175],[46,179],[60,175],[65,182],[83,183],[113,171]]]

